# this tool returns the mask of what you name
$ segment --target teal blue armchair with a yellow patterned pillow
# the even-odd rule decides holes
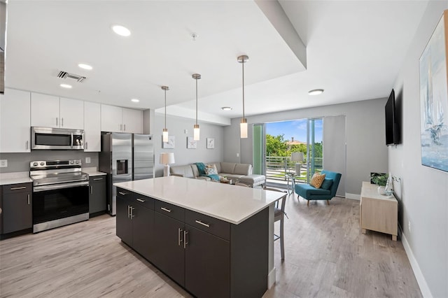
[[[296,184],[294,186],[297,199],[298,197],[307,199],[307,206],[309,206],[310,200],[318,199],[326,200],[327,204],[330,205],[330,199],[336,195],[337,187],[339,186],[339,181],[341,180],[342,175],[340,173],[325,170],[323,170],[322,173],[325,174],[325,180],[322,183],[323,185],[321,188],[316,188],[309,184]]]

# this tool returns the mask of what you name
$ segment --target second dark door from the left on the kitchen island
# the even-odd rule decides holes
[[[134,204],[132,218],[132,248],[146,260],[153,258],[154,250],[154,211],[144,206]],[[118,208],[117,208],[118,209]]]

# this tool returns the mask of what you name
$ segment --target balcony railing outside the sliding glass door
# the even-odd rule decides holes
[[[298,175],[298,173],[295,173],[295,162],[291,162],[289,156],[267,156],[266,182],[284,185],[288,181],[287,174],[294,174],[296,182],[306,183],[309,169],[311,169],[311,165],[307,163],[306,158],[304,162],[300,163],[300,175]],[[314,171],[322,171],[322,157],[314,158]]]

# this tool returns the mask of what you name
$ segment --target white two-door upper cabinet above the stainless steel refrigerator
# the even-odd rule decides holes
[[[141,134],[143,130],[143,112],[132,108],[101,105],[102,132],[130,132]]]

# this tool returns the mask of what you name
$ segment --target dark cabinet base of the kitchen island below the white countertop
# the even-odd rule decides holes
[[[268,208],[234,225],[149,197],[153,209],[140,213],[137,197],[117,188],[117,236],[173,281],[197,297],[261,297],[267,290]],[[141,217],[148,222],[137,229]],[[148,240],[143,250],[140,237]]]

